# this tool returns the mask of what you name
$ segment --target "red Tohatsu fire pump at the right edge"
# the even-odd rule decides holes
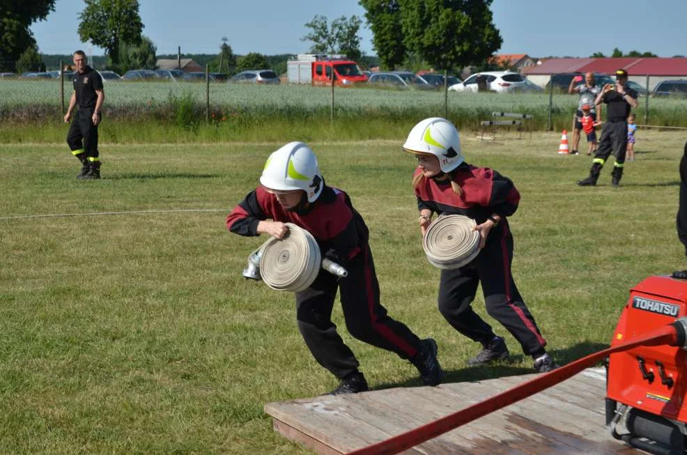
[[[611,347],[684,316],[687,316],[686,279],[671,276],[644,279],[631,289]],[[685,348],[663,344],[612,353],[606,377],[606,424],[615,438],[654,454],[686,453]]]

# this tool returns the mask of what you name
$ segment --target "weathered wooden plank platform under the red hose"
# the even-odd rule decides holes
[[[375,390],[268,403],[275,430],[318,454],[338,455],[405,433],[532,378],[509,376],[438,387]],[[554,387],[404,454],[643,454],[605,428],[605,369]]]

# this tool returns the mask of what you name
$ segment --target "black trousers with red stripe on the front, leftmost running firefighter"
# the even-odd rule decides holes
[[[295,294],[298,329],[315,360],[341,379],[359,365],[332,323],[337,288],[341,292],[346,328],[365,343],[390,350],[402,359],[417,353],[420,340],[406,325],[387,316],[379,302],[379,283],[369,246],[346,264],[348,277],[321,270],[315,282]]]

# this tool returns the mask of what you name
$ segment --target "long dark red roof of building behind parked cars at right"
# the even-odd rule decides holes
[[[548,59],[529,75],[553,75],[559,72],[601,72],[613,74],[623,68],[630,76],[687,76],[684,57],[622,57],[619,59]]]

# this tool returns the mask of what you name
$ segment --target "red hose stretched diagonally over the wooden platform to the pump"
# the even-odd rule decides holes
[[[411,447],[421,444],[426,440],[435,438],[438,435],[451,431],[458,428],[458,426],[472,422],[474,419],[479,419],[490,412],[505,408],[516,401],[527,398],[541,392],[542,390],[548,389],[557,383],[575,376],[577,373],[583,369],[590,367],[604,357],[612,353],[622,352],[624,350],[636,348],[637,346],[658,346],[661,344],[667,344],[669,346],[674,346],[677,344],[678,334],[676,329],[672,325],[666,325],[660,329],[644,334],[641,337],[635,338],[631,341],[615,346],[613,348],[608,348],[599,351],[598,353],[587,355],[587,357],[582,357],[575,362],[560,367],[548,373],[544,373],[537,378],[527,381],[526,383],[520,384],[513,387],[510,390],[492,396],[480,403],[475,403],[468,408],[454,412],[454,414],[447,415],[441,419],[430,422],[429,424],[419,426],[414,430],[410,430],[406,433],[396,435],[393,438],[389,438],[385,441],[378,442],[376,444],[370,445],[368,447],[363,447],[362,449],[354,450],[353,452],[348,452],[348,455],[391,455],[403,452],[403,450],[410,449]]]

